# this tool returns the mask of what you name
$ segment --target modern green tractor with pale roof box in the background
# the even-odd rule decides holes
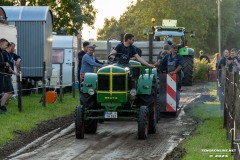
[[[154,24],[155,19],[152,18]],[[192,86],[193,83],[193,63],[194,63],[194,50],[188,47],[186,34],[194,37],[194,33],[187,32],[185,27],[177,27],[177,20],[163,20],[162,26],[152,27],[154,34],[154,41],[165,41],[166,43],[178,44],[178,53],[183,56],[183,72],[184,77],[182,85]]]

